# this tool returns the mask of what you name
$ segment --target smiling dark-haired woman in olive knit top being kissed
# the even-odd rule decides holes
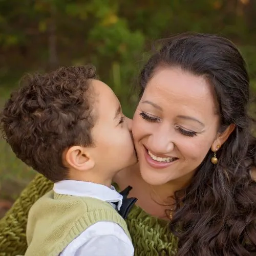
[[[139,164],[115,180],[138,198],[127,220],[135,255],[253,255],[255,140],[239,51],[222,37],[181,34],[153,54],[140,78]],[[51,186],[37,176],[1,221],[4,255],[24,253],[28,210]]]

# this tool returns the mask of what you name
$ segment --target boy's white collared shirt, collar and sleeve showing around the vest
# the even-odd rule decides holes
[[[93,197],[110,203],[118,210],[122,205],[122,196],[111,188],[91,182],[63,180],[54,184],[55,193],[62,195]],[[117,203],[113,204],[113,203]],[[134,247],[124,230],[116,223],[100,221],[75,238],[60,256],[132,256]]]

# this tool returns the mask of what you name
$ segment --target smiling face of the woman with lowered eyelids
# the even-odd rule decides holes
[[[161,185],[193,176],[217,137],[217,113],[213,88],[204,77],[158,68],[133,120],[142,178]]]

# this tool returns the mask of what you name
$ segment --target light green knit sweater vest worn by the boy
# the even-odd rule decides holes
[[[130,238],[122,217],[107,202],[91,197],[56,194],[51,190],[31,207],[26,256],[57,256],[84,230],[99,221],[120,225]]]

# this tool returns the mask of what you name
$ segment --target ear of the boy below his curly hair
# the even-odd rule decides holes
[[[65,160],[72,168],[77,170],[90,170],[95,165],[86,147],[82,146],[70,147],[66,152]]]

